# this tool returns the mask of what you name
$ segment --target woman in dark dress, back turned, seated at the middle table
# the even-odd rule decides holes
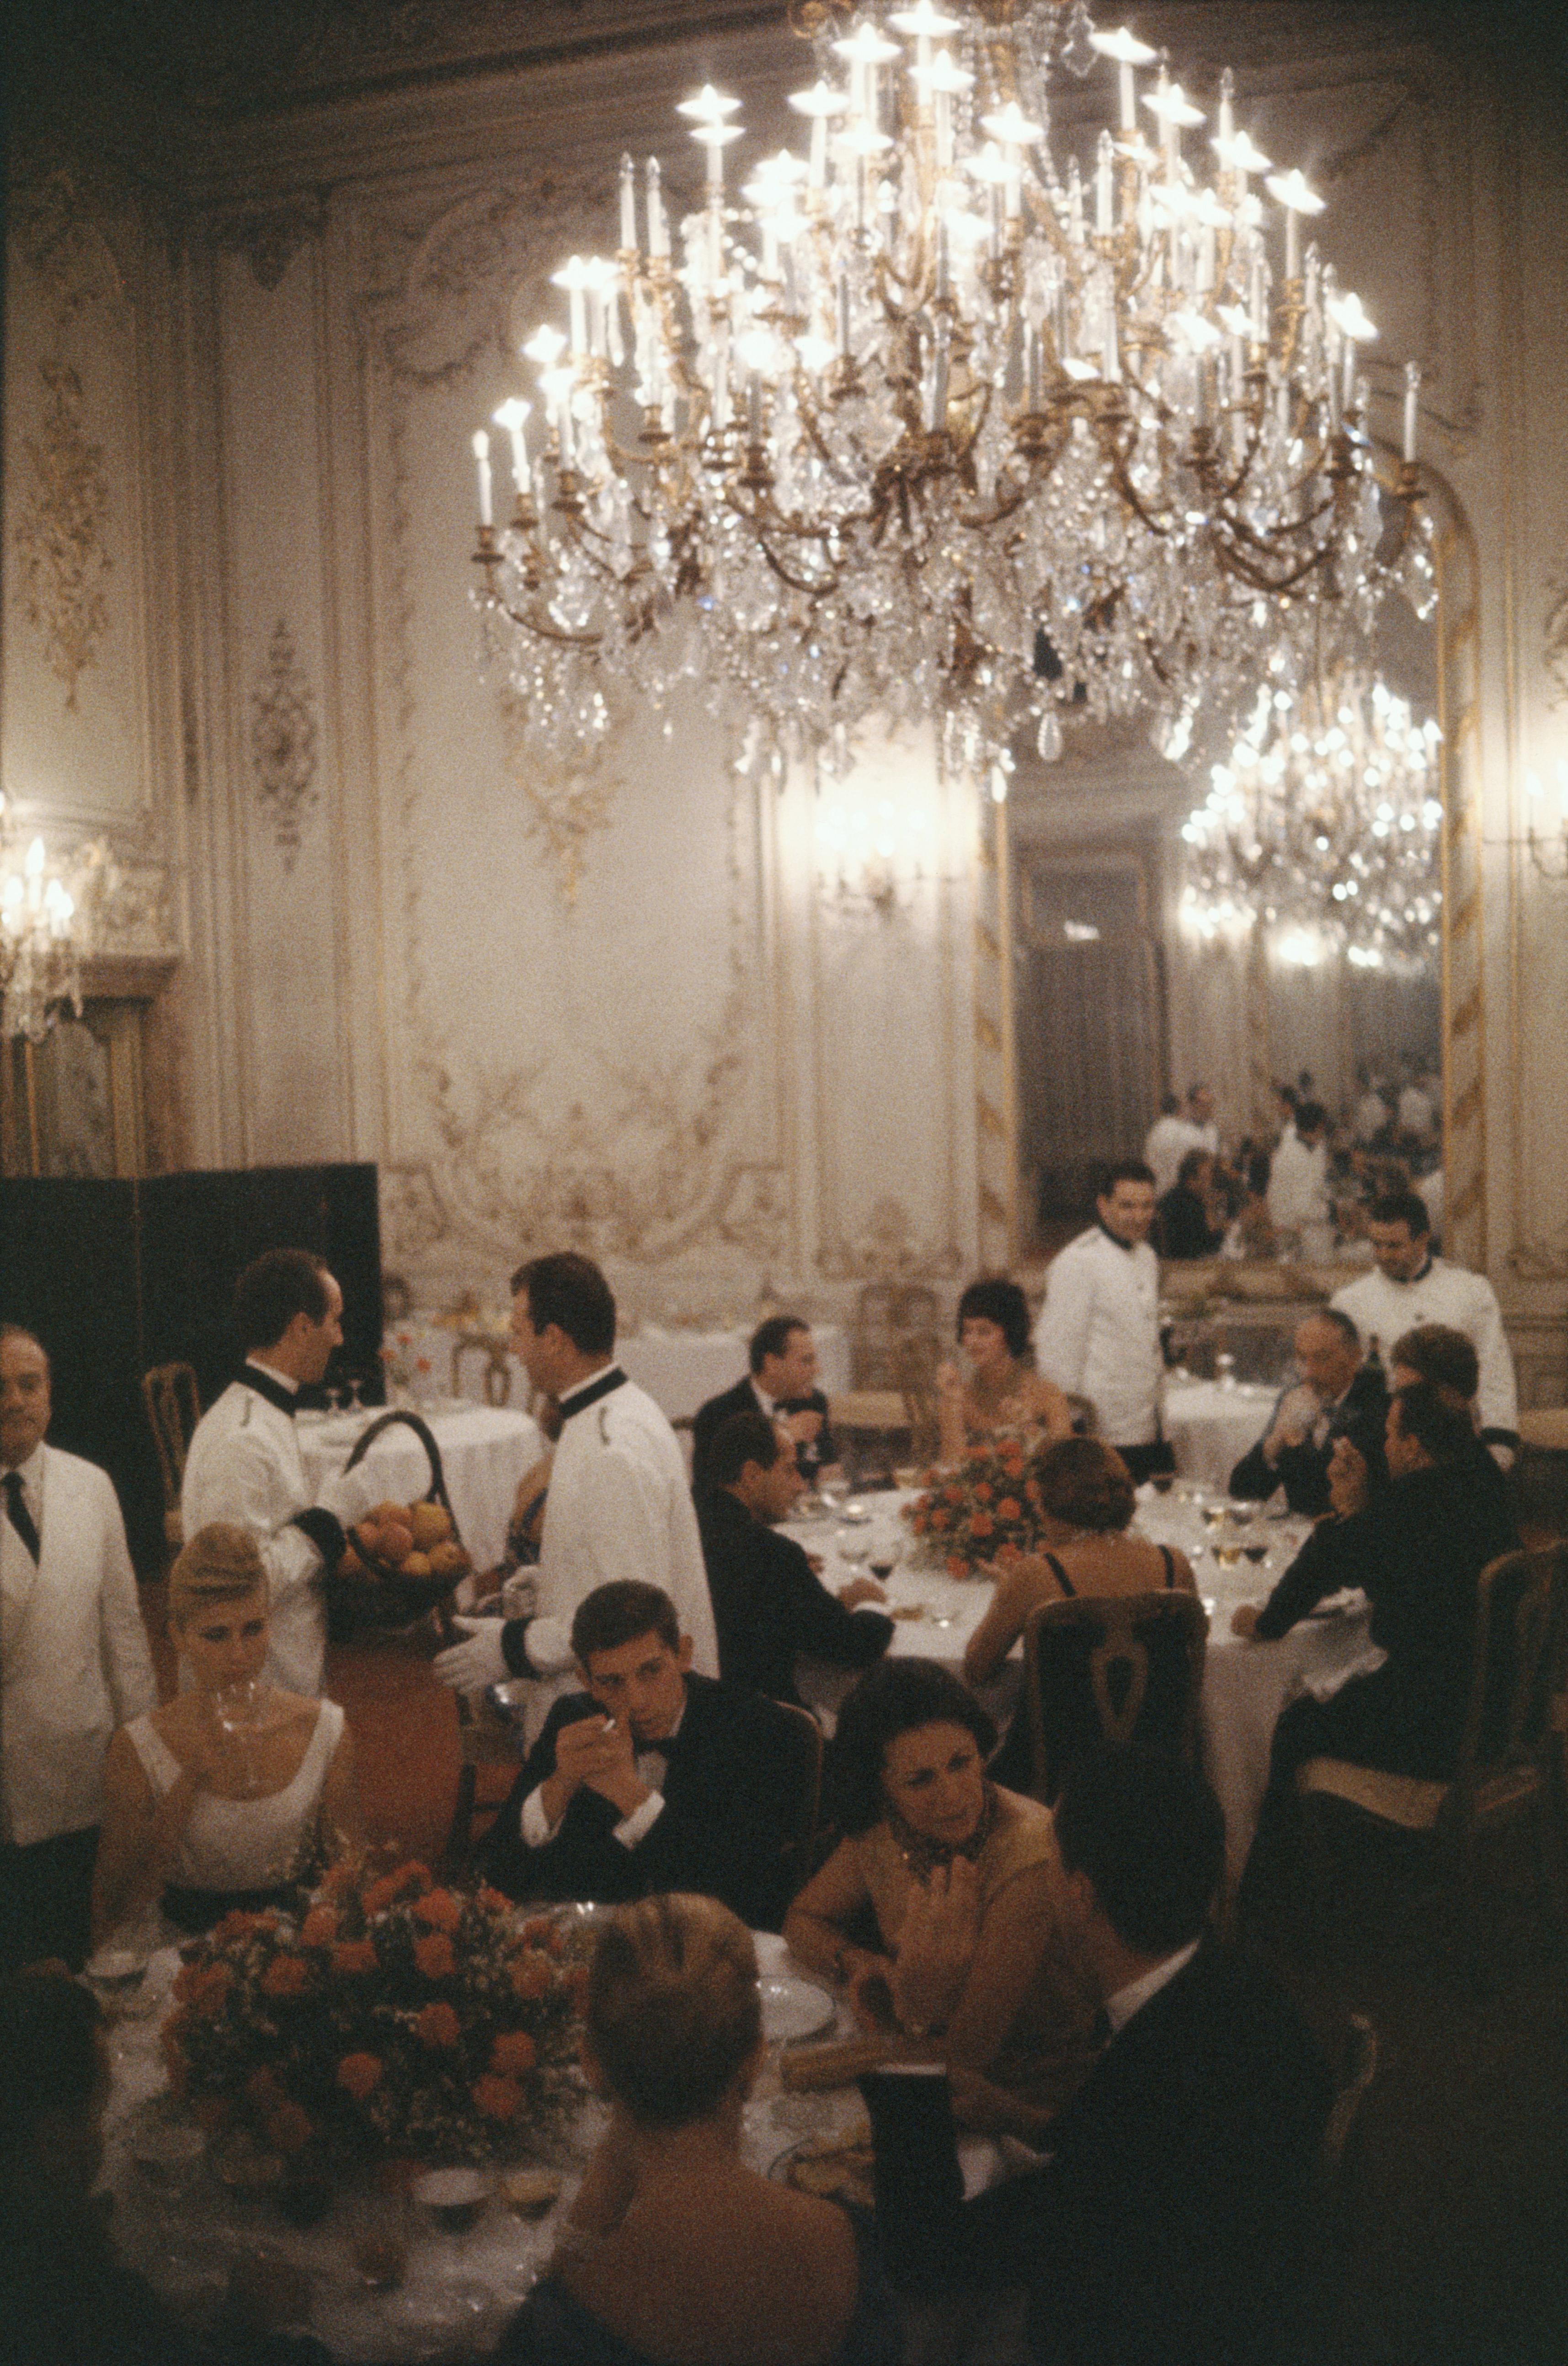
[[[1128,1467],[1100,1439],[1060,1439],[1031,1462],[1045,1552],[1029,1552],[996,1571],[991,1609],[963,1656],[970,1685],[986,1685],[1029,1625],[1041,1602],[1152,1595],[1183,1585],[1197,1592],[1185,1552],[1128,1536],[1135,1495]]]

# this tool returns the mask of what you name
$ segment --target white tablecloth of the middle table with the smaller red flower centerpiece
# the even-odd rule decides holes
[[[873,1512],[870,1528],[858,1536],[887,1536],[911,1550],[911,1536],[899,1519],[899,1505],[913,1495],[863,1495],[861,1505]],[[1246,1507],[1237,1507],[1246,1512]],[[1235,1886],[1258,1831],[1258,1812],[1268,1789],[1268,1753],[1275,1725],[1287,1701],[1305,1692],[1308,1685],[1331,1685],[1334,1677],[1355,1673],[1369,1663],[1367,1614],[1346,1611],[1331,1618],[1303,1618],[1279,1642],[1242,1642],[1230,1633],[1230,1614],[1239,1602],[1265,1602],[1277,1580],[1296,1557],[1308,1533],[1301,1519],[1258,1519],[1246,1526],[1253,1543],[1265,1543],[1268,1554],[1253,1564],[1239,1559],[1220,1564],[1213,1557],[1218,1531],[1204,1526],[1197,1500],[1183,1495],[1154,1495],[1140,1491],[1138,1536],[1154,1545],[1173,1545],[1192,1562],[1197,1590],[1209,1609],[1209,1651],[1204,1659],[1204,1696],[1199,1718],[1204,1730],[1204,1763],[1209,1779],[1225,1810],[1225,1864]],[[825,1559],[823,1583],[835,1590],[854,1573],[866,1573],[866,1564],[851,1569],[844,1562],[840,1521],[797,1521],[788,1531],[799,1538],[806,1552]],[[1225,1550],[1230,1550],[1230,1536]],[[908,1659],[937,1659],[955,1675],[963,1675],[963,1656],[974,1628],[991,1607],[986,1580],[948,1578],[932,1569],[911,1569],[901,1559],[887,1580],[889,1609],[918,1611],[915,1618],[899,1618],[889,1651]],[[818,1661],[799,1666],[802,1696],[828,1715],[837,1715],[840,1701],[849,1692],[854,1675],[828,1668]],[[1005,1725],[1019,1704],[1024,1685],[1024,1647],[1015,1644],[1012,1656],[993,1677],[979,1687],[998,1725]]]

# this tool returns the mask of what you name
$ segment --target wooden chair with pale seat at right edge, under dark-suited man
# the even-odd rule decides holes
[[[1462,1916],[1471,1985],[1485,1985],[1476,1909],[1480,1841],[1533,1822],[1542,1900],[1561,1935],[1568,1926],[1563,1883],[1563,1744],[1568,1739],[1568,1545],[1504,1552],[1476,1585],[1471,1696],[1452,1782],[1421,1782],[1358,1767],[1348,1758],[1308,1758],[1296,1770],[1315,1921],[1329,1919],[1331,1819],[1400,1831],[1452,1888]]]

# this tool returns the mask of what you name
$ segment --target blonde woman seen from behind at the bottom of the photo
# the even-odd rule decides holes
[[[875,2243],[740,2163],[762,2049],[745,1924],[712,1898],[620,1907],[582,2035],[610,2129],[497,2366],[892,2366]]]

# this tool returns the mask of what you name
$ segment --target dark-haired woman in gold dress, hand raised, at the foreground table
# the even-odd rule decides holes
[[[892,1659],[840,1711],[847,1838],[785,1914],[802,1964],[866,2028],[937,2047],[974,2125],[1038,2129],[1086,2068],[1088,2004],[1055,1947],[1050,1810],[986,1777],[996,1725],[929,1659]],[[856,1942],[875,1924],[880,1945]]]

